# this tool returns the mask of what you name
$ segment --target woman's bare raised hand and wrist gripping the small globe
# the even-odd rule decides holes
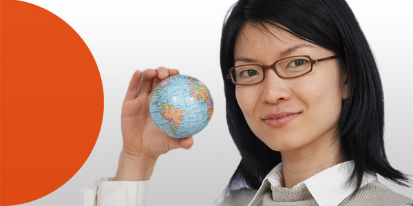
[[[162,133],[149,114],[151,91],[176,69],[136,71],[131,78],[122,106],[123,150],[115,181],[141,181],[150,178],[158,157],[176,148],[191,148],[192,137],[176,139]]]

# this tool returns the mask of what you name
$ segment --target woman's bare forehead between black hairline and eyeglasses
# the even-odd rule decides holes
[[[274,25],[248,22],[237,34],[234,58],[243,56],[257,60],[265,58],[274,60],[287,56],[289,51],[297,48],[301,51],[322,49]]]

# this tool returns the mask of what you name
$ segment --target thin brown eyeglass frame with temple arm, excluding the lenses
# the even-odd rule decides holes
[[[285,59],[287,59],[287,58],[294,58],[294,57],[305,57],[305,58],[308,58],[308,59],[310,60],[310,64],[311,64],[310,70],[307,71],[306,73],[303,73],[303,74],[300,74],[299,76],[294,76],[294,77],[284,77],[284,76],[282,76],[281,74],[279,74],[279,72],[277,71],[277,68],[275,67],[275,65],[277,64],[277,62],[282,61],[282,60],[285,60]],[[231,82],[233,82],[233,84],[235,84],[235,85],[244,85],[244,86],[255,85],[255,84],[259,84],[259,83],[261,83],[262,81],[264,81],[266,69],[274,69],[274,70],[275,70],[275,73],[277,73],[277,76],[279,76],[280,78],[283,78],[283,79],[297,78],[297,77],[303,76],[303,75],[305,75],[305,74],[310,73],[311,71],[313,71],[313,65],[314,65],[315,63],[322,62],[322,61],[325,61],[325,60],[330,60],[330,59],[333,59],[333,58],[338,58],[338,57],[339,57],[339,56],[334,55],[334,56],[328,56],[328,57],[326,57],[326,58],[319,58],[319,59],[314,59],[314,60],[313,60],[313,59],[312,59],[310,56],[308,56],[308,55],[299,55],[299,56],[288,56],[288,57],[286,57],[286,58],[282,58],[282,59],[276,60],[275,62],[273,62],[272,65],[260,65],[260,64],[239,65],[239,66],[231,67],[231,68],[228,70],[228,74],[226,75],[226,78],[229,79],[229,80],[231,80]],[[260,82],[257,82],[257,83],[254,83],[254,84],[239,84],[239,83],[236,83],[236,82],[233,80],[233,77],[232,77],[232,75],[231,75],[231,71],[233,71],[233,70],[236,69],[237,67],[254,66],[254,65],[255,65],[255,66],[260,66],[260,67],[262,68],[262,71],[264,71],[263,74],[262,74],[262,80],[261,80]]]

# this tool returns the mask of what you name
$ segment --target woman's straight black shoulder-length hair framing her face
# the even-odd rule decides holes
[[[226,119],[242,157],[226,190],[258,189],[271,169],[281,162],[280,152],[258,139],[246,123],[235,98],[235,85],[226,79],[234,66],[237,34],[246,23],[283,25],[291,34],[335,52],[347,77],[347,98],[342,101],[337,136],[345,159],[354,161],[348,183],[359,190],[364,172],[380,174],[396,184],[410,183],[390,166],[384,150],[384,102],[379,71],[368,42],[344,0],[240,0],[222,28],[220,64],[224,78]],[[276,24],[275,24],[276,23]]]

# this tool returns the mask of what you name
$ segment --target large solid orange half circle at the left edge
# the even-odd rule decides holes
[[[0,205],[61,187],[89,157],[103,119],[92,53],[58,16],[1,1]]]

